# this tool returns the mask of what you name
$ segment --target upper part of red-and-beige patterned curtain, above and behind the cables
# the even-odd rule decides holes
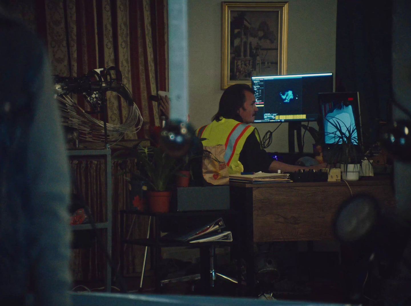
[[[53,74],[82,76],[97,68],[117,67],[143,116],[143,128],[129,139],[148,137],[159,125],[157,90],[168,90],[166,0],[25,0],[13,10],[42,37]],[[90,110],[83,97],[73,97]],[[127,117],[127,104],[107,94],[109,123]]]

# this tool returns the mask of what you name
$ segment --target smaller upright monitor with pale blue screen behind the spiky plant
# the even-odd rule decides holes
[[[319,104],[323,118],[326,147],[341,144],[339,135],[348,130],[352,133],[354,144],[362,139],[360,99],[358,92],[319,93]],[[337,126],[341,131],[337,130]]]

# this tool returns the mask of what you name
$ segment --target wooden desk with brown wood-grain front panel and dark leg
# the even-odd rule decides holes
[[[332,240],[332,220],[340,204],[353,195],[369,194],[395,207],[386,177],[317,183],[231,183],[231,209],[241,212],[247,287],[254,294],[254,243],[265,241]]]

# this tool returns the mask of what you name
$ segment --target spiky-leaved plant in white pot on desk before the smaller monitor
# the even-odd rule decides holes
[[[339,164],[341,178],[346,181],[358,181],[362,160],[365,158],[363,146],[358,143],[357,130],[354,124],[347,126],[341,119],[328,117],[326,139],[335,145],[330,152],[328,164]]]

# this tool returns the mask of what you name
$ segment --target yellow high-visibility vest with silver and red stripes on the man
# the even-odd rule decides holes
[[[252,125],[234,119],[221,119],[221,121],[212,121],[212,123],[200,127],[196,130],[196,135],[200,139],[205,138],[203,146],[225,145],[224,161],[227,164],[229,174],[244,172],[244,167],[238,160],[240,152],[245,140],[252,132],[256,133],[257,139],[259,139],[258,132]]]

